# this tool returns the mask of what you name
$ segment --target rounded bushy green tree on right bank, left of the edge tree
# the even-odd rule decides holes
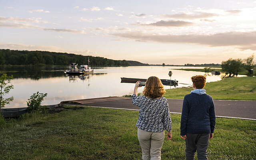
[[[243,68],[243,62],[242,59],[228,59],[227,61],[222,61],[221,63],[222,71],[226,72],[226,74],[229,74],[229,77],[237,76],[238,72],[242,70]]]

